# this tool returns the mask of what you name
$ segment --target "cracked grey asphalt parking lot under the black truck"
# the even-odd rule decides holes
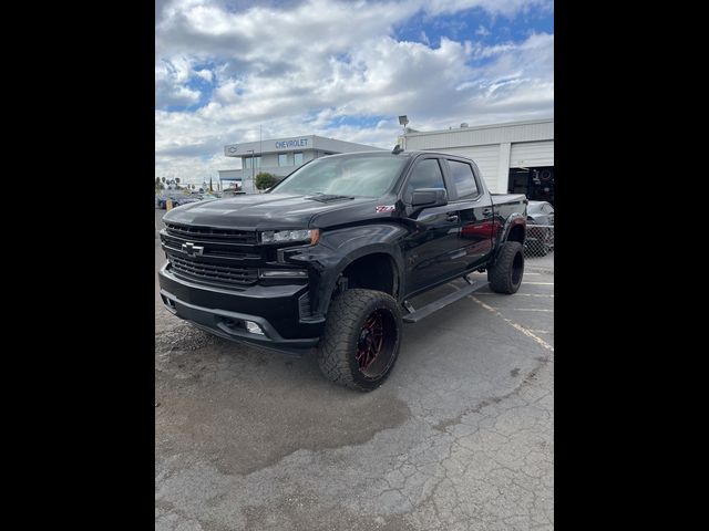
[[[155,529],[553,529],[553,258],[528,259],[518,293],[405,325],[360,394],[192,327],[156,279]]]

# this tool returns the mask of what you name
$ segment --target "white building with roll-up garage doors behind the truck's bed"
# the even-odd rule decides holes
[[[405,129],[403,148],[472,158],[487,188],[554,202],[554,118],[443,131]]]

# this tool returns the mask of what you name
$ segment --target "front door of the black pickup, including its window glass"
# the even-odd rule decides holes
[[[402,200],[411,206],[419,188],[445,188],[441,162],[435,156],[419,158],[402,187]],[[451,190],[448,190],[451,194]],[[455,274],[460,262],[460,217],[456,205],[424,208],[410,218],[413,230],[404,240],[405,292],[411,294]]]

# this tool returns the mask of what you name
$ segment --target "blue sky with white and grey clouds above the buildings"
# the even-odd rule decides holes
[[[216,179],[224,146],[552,117],[551,0],[156,0],[155,175]]]

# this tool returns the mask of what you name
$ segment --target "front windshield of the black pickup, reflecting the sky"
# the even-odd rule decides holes
[[[296,170],[270,194],[380,197],[393,185],[407,160],[395,155],[318,158]]]

